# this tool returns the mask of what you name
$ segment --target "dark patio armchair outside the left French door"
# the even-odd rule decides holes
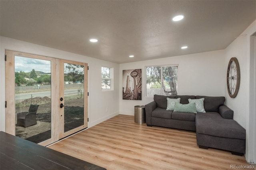
[[[39,105],[30,104],[28,111],[17,113],[17,126],[29,127],[36,125],[36,111]]]

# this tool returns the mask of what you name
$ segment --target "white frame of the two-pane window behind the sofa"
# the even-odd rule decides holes
[[[161,72],[160,72],[160,76],[161,76],[161,84],[163,82],[163,77],[162,77],[162,68],[163,67],[170,67],[170,66],[177,66],[177,77],[179,77],[179,64],[168,64],[168,65],[151,65],[151,66],[145,66],[145,97],[146,98],[154,98],[154,96],[147,96],[147,67],[161,67]],[[177,94],[179,94],[179,81],[177,80]],[[161,94],[158,95],[164,95],[162,93],[162,87],[161,87]]]

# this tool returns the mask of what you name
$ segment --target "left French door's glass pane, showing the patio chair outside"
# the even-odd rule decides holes
[[[15,135],[40,143],[51,138],[51,61],[14,56]]]

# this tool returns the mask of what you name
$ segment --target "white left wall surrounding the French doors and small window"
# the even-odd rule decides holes
[[[0,37],[0,131],[5,131],[5,49],[88,63],[88,127],[119,114],[119,64]],[[102,92],[101,90],[101,66],[114,68],[113,91]]]

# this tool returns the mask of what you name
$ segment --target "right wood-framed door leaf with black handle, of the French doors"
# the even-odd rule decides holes
[[[60,60],[59,138],[85,129],[88,125],[87,64]],[[86,69],[85,69],[86,68]]]

